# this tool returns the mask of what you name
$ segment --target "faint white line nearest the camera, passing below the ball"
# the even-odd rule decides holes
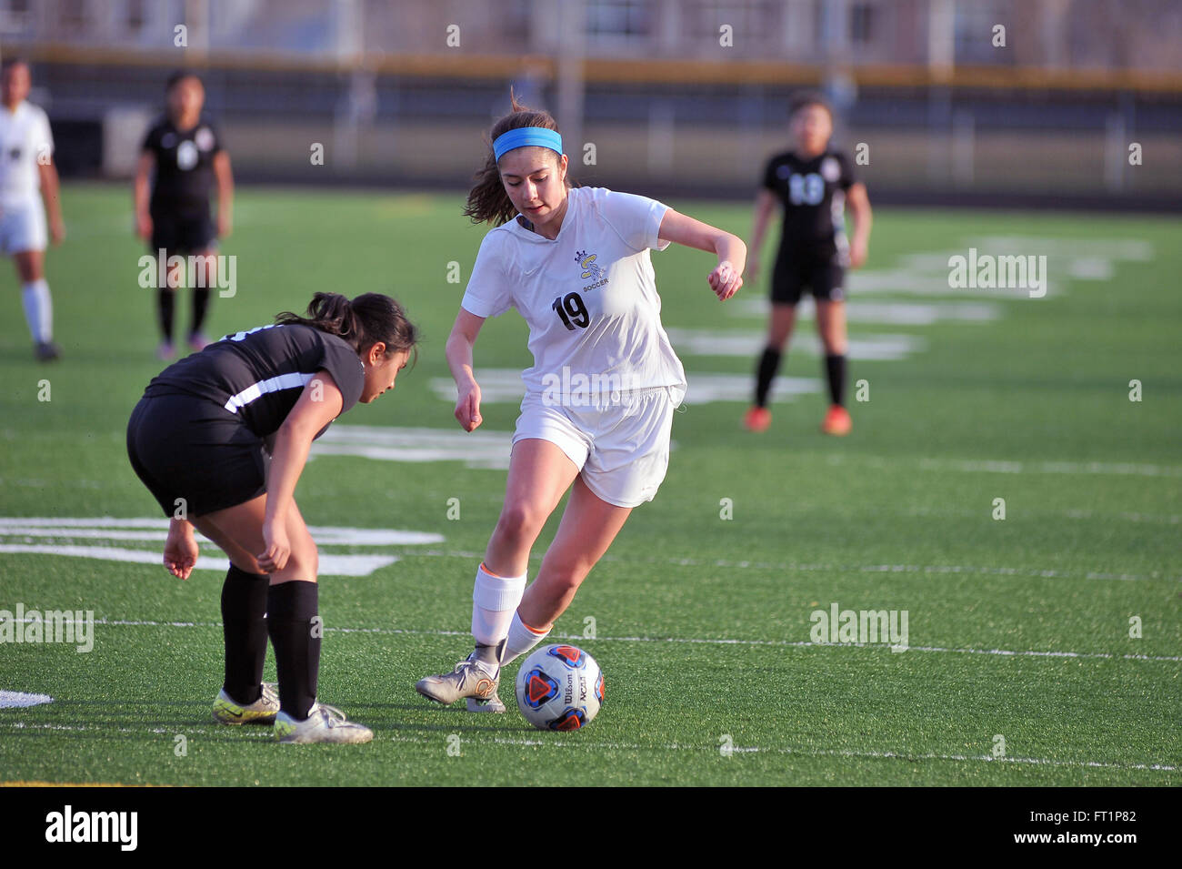
[[[201,724],[197,726],[199,729],[216,728],[217,725],[214,724]],[[113,727],[109,725],[60,725],[60,724],[48,724],[48,722],[28,722],[28,721],[6,721],[0,719],[0,728],[7,728],[12,731],[64,731],[67,733],[173,733],[176,728],[167,729],[164,727]],[[193,726],[188,726],[187,729],[193,729]],[[252,734],[254,735],[254,734]],[[248,737],[249,738],[249,737]],[[266,732],[265,728],[260,731],[258,735],[252,741],[256,742],[271,742],[273,737]],[[428,737],[390,737],[392,742],[414,742],[416,745],[436,745],[437,739]],[[669,752],[669,751],[690,751],[690,752],[706,752],[714,754],[720,752],[719,746],[714,745],[693,745],[682,742],[669,742],[664,745],[641,745],[638,742],[616,742],[616,741],[604,741],[589,739],[586,737],[580,737],[578,739],[513,739],[506,737],[466,737],[469,744],[493,744],[493,745],[507,745],[507,746],[521,746],[528,748],[583,748],[583,750],[606,750],[606,751],[644,751],[644,752]],[[995,763],[995,764],[1019,764],[1030,766],[1070,766],[1080,769],[1100,769],[1100,770],[1148,770],[1154,772],[1177,772],[1177,766],[1171,766],[1169,764],[1111,764],[1103,763],[1099,760],[1056,760],[1052,758],[995,758],[992,754],[937,754],[935,752],[924,752],[921,754],[905,752],[905,751],[850,751],[847,748],[834,750],[834,748],[790,748],[782,746],[734,746],[729,750],[735,754],[794,754],[797,757],[807,758],[825,758],[825,757],[840,757],[840,758],[868,758],[873,760],[950,760],[956,763]],[[721,754],[720,754],[721,755]]]

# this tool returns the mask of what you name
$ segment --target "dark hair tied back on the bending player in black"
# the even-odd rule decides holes
[[[415,351],[420,338],[402,305],[382,293],[362,293],[351,301],[340,293],[316,293],[307,306],[307,317],[284,311],[275,317],[275,323],[312,326],[336,335],[358,356],[364,356],[378,342],[385,344],[387,358]]]

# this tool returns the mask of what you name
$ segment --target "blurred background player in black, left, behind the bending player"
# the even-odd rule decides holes
[[[174,72],[165,89],[167,112],[144,137],[136,168],[136,233],[149,242],[152,255],[161,251],[200,257],[201,272],[193,287],[193,322],[189,346],[201,350],[209,307],[209,288],[217,286],[216,257],[219,238],[232,229],[234,180],[229,154],[209,119],[201,114],[206,91],[191,72]],[[149,179],[151,192],[149,195]],[[209,192],[217,184],[217,225],[209,218]],[[180,274],[176,272],[180,271]],[[158,273],[158,271],[157,271]],[[163,342],[161,359],[175,356],[173,319],[176,287],[184,281],[184,270],[170,270],[165,286],[156,291],[156,307]]]

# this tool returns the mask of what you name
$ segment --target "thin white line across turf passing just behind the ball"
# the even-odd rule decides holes
[[[20,618],[13,620],[25,624],[31,624],[37,620]],[[61,624],[78,623],[76,620],[63,620]],[[102,624],[122,628],[217,628],[221,622],[157,622],[151,620],[130,618],[96,618],[87,624]],[[337,634],[379,634],[379,635],[405,635],[405,636],[459,636],[467,637],[470,634],[466,630],[424,630],[417,628],[335,628],[325,625],[326,631]],[[552,634],[552,640],[579,641],[586,640],[582,634]],[[689,646],[772,646],[777,648],[837,648],[852,647],[858,649],[891,649],[891,643],[816,643],[810,640],[732,640],[726,637],[647,637],[647,636],[599,636],[595,642],[600,643],[686,643]],[[1182,661],[1182,655],[1113,655],[1104,651],[1035,651],[1035,650],[1011,650],[1011,649],[957,649],[943,646],[908,646],[905,651],[929,651],[947,653],[957,655],[1002,655],[1025,657],[1073,657],[1073,659],[1108,659],[1125,661]],[[902,654],[902,653],[892,653]]]

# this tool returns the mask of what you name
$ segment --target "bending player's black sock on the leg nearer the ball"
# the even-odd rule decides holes
[[[312,620],[318,609],[318,592],[316,583],[294,581],[272,585],[267,595],[267,630],[279,670],[279,706],[297,721],[305,720],[316,702],[320,631],[319,623]]]

